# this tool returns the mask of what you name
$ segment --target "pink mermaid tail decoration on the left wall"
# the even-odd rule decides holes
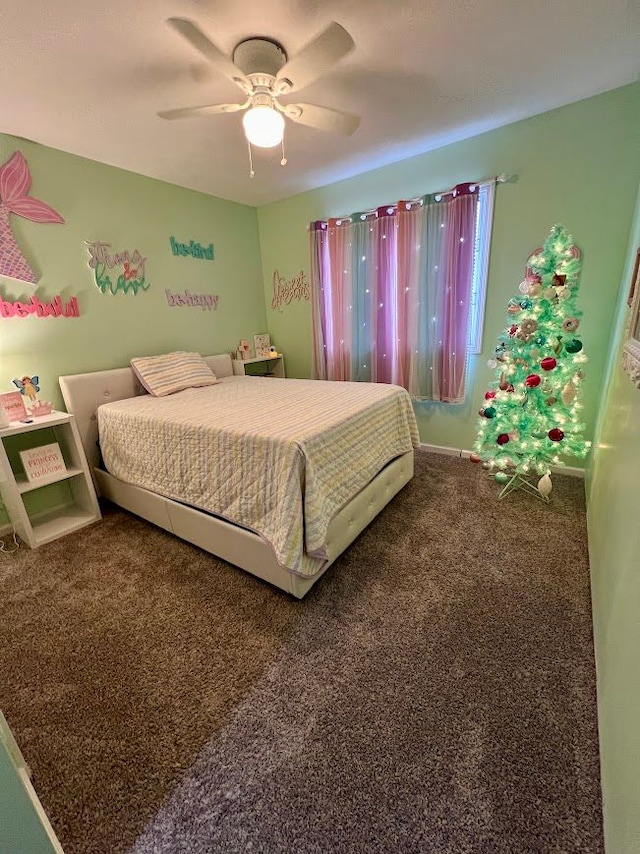
[[[9,214],[23,216],[33,222],[63,223],[64,220],[49,205],[28,196],[30,186],[27,161],[19,151],[15,151],[0,166],[0,275],[35,285],[38,280],[16,243]]]

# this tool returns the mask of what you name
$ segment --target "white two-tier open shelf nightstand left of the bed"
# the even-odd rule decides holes
[[[52,438],[53,437],[53,438]],[[27,479],[18,448],[37,448],[57,442],[66,471],[44,482]],[[28,496],[65,483],[46,510],[29,509]],[[16,533],[35,549],[100,519],[100,507],[73,415],[52,412],[28,424],[12,422],[0,429],[0,495]]]

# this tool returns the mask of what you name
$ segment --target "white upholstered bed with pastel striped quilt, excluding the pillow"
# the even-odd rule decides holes
[[[204,361],[218,383],[165,398],[131,367],[60,377],[97,490],[301,599],[413,476],[409,396]]]

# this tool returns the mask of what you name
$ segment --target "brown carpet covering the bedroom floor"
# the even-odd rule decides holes
[[[66,854],[602,852],[583,483],[553,481],[501,502],[418,451],[302,602],[116,508],[0,555],[0,707]]]

